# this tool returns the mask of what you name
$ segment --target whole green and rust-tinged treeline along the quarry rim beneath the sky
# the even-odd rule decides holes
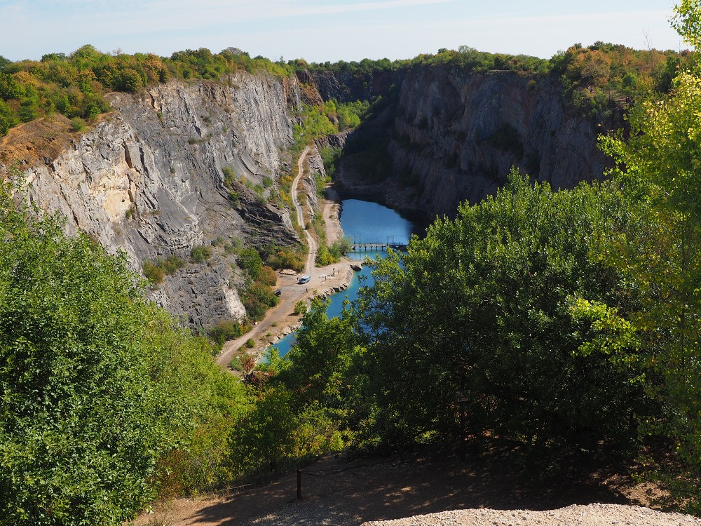
[[[441,49],[435,55],[421,54],[407,60],[383,58],[308,64],[301,59],[272,62],[263,57],[250,58],[237,48],[227,48],[221,53],[206,48],[184,50],[163,58],[152,53],[102,53],[86,45],[69,55],[48,53],[39,61],[12,62],[0,56],[0,135],[20,122],[52,113],[75,119],[74,126],[79,129],[82,121],[92,121],[109,111],[104,95],[110,91],[133,93],[171,78],[216,81],[243,69],[265,70],[277,76],[305,70],[312,74],[328,72],[358,85],[372,81],[381,72],[411,67],[447,66],[466,73],[513,71],[534,79],[555,75],[562,79],[575,104],[600,111],[612,95],[635,96],[648,90],[666,92],[679,67],[690,58],[686,51],[641,51],[597,42],[587,48],[575,44],[549,60],[484,53],[460,46],[458,50]]]

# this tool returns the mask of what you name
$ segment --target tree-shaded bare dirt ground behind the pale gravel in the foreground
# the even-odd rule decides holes
[[[410,457],[360,459],[328,455],[297,476],[217,501],[173,518],[172,525],[359,525],[464,508],[561,508],[570,504],[644,504],[625,468],[562,459],[557,476],[524,475],[513,456],[491,449],[464,461],[425,451]],[[330,473],[330,474],[324,474]]]

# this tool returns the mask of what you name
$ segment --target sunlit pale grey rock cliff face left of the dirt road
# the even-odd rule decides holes
[[[193,247],[216,238],[298,240],[288,211],[249,188],[290,166],[284,152],[292,144],[290,111],[299,105],[296,81],[242,72],[224,83],[115,93],[111,102],[115,111],[69,147],[22,167],[32,200],[65,215],[69,231],[109,252],[124,250],[135,269],[170,255],[189,260]],[[235,179],[228,187],[225,171]],[[166,276],[152,295],[191,326],[243,318],[235,261],[214,250],[207,262]]]

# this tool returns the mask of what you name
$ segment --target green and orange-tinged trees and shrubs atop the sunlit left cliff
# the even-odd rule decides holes
[[[273,64],[264,58],[251,59],[247,53],[231,48],[216,54],[205,48],[185,50],[161,58],[151,53],[113,55],[88,45],[68,56],[47,53],[39,62],[4,59],[0,63],[0,101],[11,103],[12,118],[2,119],[0,111],[0,131],[6,123],[11,127],[56,111],[69,119],[92,121],[109,112],[104,98],[109,91],[135,93],[143,86],[172,77],[221,81],[242,69],[266,70],[275,76],[292,74],[287,65]]]

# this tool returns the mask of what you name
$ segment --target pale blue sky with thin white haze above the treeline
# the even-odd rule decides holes
[[[83,44],[123,53],[233,46],[308,62],[413,58],[465,45],[550,58],[573,43],[686,48],[674,0],[0,0],[0,55]]]

